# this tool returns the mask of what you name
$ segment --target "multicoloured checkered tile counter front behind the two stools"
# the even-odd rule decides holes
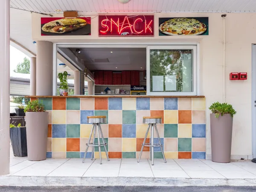
[[[137,158],[148,126],[142,124],[143,116],[162,116],[164,124],[157,128],[166,158],[205,159],[205,98],[55,97],[40,100],[49,112],[47,157],[83,157],[92,127],[87,124],[87,116],[105,115],[107,123],[102,124],[102,131],[110,158]],[[154,157],[162,158],[160,148],[154,150]],[[87,157],[90,155],[91,152]],[[102,155],[106,157],[105,152]],[[98,148],[95,157],[99,157]],[[149,147],[145,147],[142,158],[148,157]]]

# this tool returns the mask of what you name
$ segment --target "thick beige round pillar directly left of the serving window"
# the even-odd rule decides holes
[[[53,44],[49,41],[36,43],[36,95],[52,96]]]

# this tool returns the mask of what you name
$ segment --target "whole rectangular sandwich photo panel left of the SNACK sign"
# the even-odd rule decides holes
[[[91,35],[90,17],[41,17],[41,35]]]

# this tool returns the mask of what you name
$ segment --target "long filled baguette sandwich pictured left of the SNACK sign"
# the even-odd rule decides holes
[[[65,33],[75,31],[87,25],[86,20],[74,18],[74,19],[58,19],[45,23],[42,27],[44,32],[51,33]]]

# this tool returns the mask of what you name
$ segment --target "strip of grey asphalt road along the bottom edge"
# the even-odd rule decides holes
[[[0,192],[255,192],[256,186],[189,186],[189,187],[150,187],[150,186],[65,186],[65,187],[13,187],[0,186]]]

